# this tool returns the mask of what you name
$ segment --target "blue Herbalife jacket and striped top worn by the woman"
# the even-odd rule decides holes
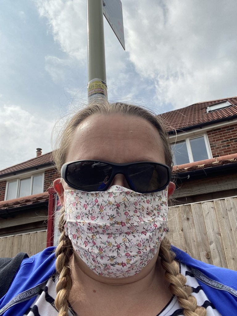
[[[8,292],[0,299],[0,316],[58,316],[53,306],[56,297],[54,249],[49,247],[23,259]],[[173,246],[172,250],[198,305],[206,307],[208,316],[236,316],[237,271],[193,259]],[[73,313],[70,316],[76,315]],[[183,315],[177,297],[174,296],[158,315]]]

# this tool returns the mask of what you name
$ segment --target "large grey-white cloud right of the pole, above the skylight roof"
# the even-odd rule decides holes
[[[178,108],[236,94],[236,2],[126,4],[130,59],[154,80],[157,100]]]

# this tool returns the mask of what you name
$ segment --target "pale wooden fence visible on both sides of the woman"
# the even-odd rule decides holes
[[[172,206],[168,238],[193,258],[237,270],[237,197]],[[0,257],[46,247],[46,230],[0,238]]]

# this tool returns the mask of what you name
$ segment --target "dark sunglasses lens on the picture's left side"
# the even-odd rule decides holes
[[[81,190],[100,191],[108,183],[112,167],[99,161],[78,161],[67,167],[68,182]]]

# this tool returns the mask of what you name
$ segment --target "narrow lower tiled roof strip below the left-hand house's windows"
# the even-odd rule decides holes
[[[34,195],[29,195],[27,197],[18,197],[12,200],[1,201],[0,202],[0,210],[4,209],[13,209],[19,206],[31,205],[39,202],[48,202],[49,193],[38,193]]]

